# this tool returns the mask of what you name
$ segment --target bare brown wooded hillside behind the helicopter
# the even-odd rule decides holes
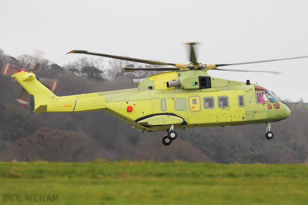
[[[29,71],[34,58],[10,57],[0,49],[0,66],[9,62]],[[124,72],[121,67],[148,66],[103,58],[79,58],[67,65],[39,61],[38,77],[60,80],[58,96],[134,88],[131,78],[155,72]],[[151,66],[152,67],[152,66]],[[33,113],[15,103],[21,86],[0,76],[0,161],[154,160],[217,163],[304,163],[308,160],[308,109],[286,103],[291,116],[272,124],[274,138],[265,138],[265,124],[191,128],[179,131],[168,147],[163,132],[144,132],[103,111],[82,113]],[[33,100],[32,100],[33,101]]]

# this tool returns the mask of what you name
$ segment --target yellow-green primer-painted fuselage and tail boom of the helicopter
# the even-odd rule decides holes
[[[14,77],[26,91],[34,96],[34,112],[87,112],[106,111],[144,131],[258,124],[287,118],[290,109],[282,102],[279,109],[268,109],[267,104],[256,102],[254,85],[211,77],[212,88],[177,89],[166,82],[184,77],[202,76],[205,71],[176,71],[159,73],[144,79],[138,89],[115,90],[58,97],[36,80],[34,73],[20,72]],[[194,74],[197,73],[197,74]],[[155,88],[148,89],[148,82]],[[200,83],[200,82],[199,82]],[[229,85],[231,84],[232,85]],[[154,85],[154,84],[151,84]],[[244,104],[239,104],[239,96]],[[220,98],[228,98],[227,106],[218,106]],[[206,107],[205,99],[213,105]],[[209,101],[207,101],[209,103]],[[268,103],[273,104],[273,103]],[[132,106],[132,112],[127,107]],[[183,121],[182,121],[183,120]]]

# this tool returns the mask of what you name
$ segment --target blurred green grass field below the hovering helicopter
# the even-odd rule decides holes
[[[18,204],[25,194],[58,194],[57,204],[308,203],[306,164],[1,162],[0,184],[1,197],[22,195]]]

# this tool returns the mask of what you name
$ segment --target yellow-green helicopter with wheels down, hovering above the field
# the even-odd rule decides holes
[[[223,127],[244,124],[265,124],[267,139],[272,139],[272,122],[290,116],[290,109],[268,89],[246,82],[212,77],[209,70],[270,72],[221,69],[227,65],[241,65],[268,61],[306,58],[254,61],[233,64],[202,64],[194,52],[196,43],[190,46],[190,63],[164,63],[130,57],[113,56],[73,50],[69,53],[83,53],[110,57],[151,65],[173,66],[158,68],[130,68],[124,71],[155,70],[163,73],[143,79],[132,79],[138,88],[87,93],[71,96],[56,96],[39,82],[32,72],[14,73],[23,88],[34,96],[34,111],[45,112],[87,112],[106,111],[133,125],[142,132],[164,131],[162,143],[168,146],[178,136],[176,129],[197,127]],[[68,53],[67,53],[68,54]],[[167,72],[166,72],[167,71]]]

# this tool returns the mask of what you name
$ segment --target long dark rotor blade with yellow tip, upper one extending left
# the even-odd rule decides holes
[[[84,53],[84,54],[89,54],[89,55],[103,56],[103,57],[108,57],[108,58],[120,59],[120,60],[124,60],[124,61],[133,61],[133,62],[138,62],[138,63],[152,64],[152,65],[173,65],[173,66],[175,65],[174,63],[163,63],[163,62],[158,62],[158,61],[149,61],[149,60],[143,60],[143,59],[137,59],[137,58],[112,56],[112,55],[101,54],[101,53],[89,53],[89,52],[84,51],[84,50],[73,50],[73,51],[68,52],[68,53]]]

